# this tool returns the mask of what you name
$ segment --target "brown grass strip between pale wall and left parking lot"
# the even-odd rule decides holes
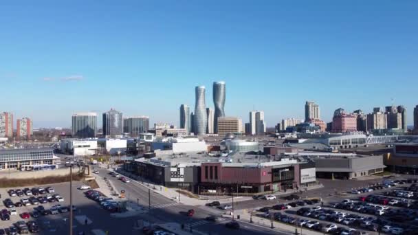
[[[0,188],[16,188],[16,187],[25,187],[25,186],[36,186],[36,185],[44,185],[44,184],[52,184],[52,183],[63,183],[69,182],[69,175],[63,176],[49,176],[37,179],[0,179]],[[73,181],[80,181],[84,179],[82,173],[80,174],[73,174]]]

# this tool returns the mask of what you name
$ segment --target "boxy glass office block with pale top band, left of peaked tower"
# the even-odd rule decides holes
[[[96,113],[74,113],[72,115],[72,136],[94,138],[97,134]]]

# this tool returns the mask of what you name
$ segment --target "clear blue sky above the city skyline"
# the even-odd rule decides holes
[[[393,98],[412,123],[418,104],[418,1],[15,2],[0,3],[0,111],[35,127],[111,107],[178,125],[196,85],[213,107],[214,80],[227,115],[267,126],[305,100],[325,121]]]

